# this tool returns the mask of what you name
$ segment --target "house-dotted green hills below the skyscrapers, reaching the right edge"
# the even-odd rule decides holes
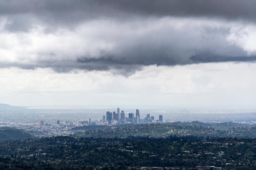
[[[196,124],[196,125],[195,125]],[[195,125],[195,126],[194,126]],[[200,125],[200,126],[199,126]],[[204,125],[204,126],[202,126]],[[208,125],[207,125],[208,126]],[[175,124],[146,124],[135,126],[109,126],[104,129],[85,130],[75,133],[73,137],[168,137],[176,136],[219,136],[219,137],[239,137],[239,138],[255,138],[255,127],[234,127],[228,130],[219,130],[233,127],[235,124],[228,126],[227,123],[214,125],[217,128],[207,127],[205,124],[199,123],[177,123]]]

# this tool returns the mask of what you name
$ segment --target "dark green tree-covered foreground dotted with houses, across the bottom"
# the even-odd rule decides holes
[[[72,138],[0,142],[0,169],[105,169],[215,165],[256,169],[255,139],[178,137]]]

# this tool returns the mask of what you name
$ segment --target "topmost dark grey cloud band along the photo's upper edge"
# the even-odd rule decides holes
[[[11,21],[6,25],[10,31],[28,31],[37,24],[54,31],[99,18],[123,21],[174,16],[255,22],[255,6],[255,0],[9,0],[0,1],[0,15]]]

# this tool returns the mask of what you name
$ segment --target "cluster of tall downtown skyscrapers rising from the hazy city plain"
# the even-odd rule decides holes
[[[140,111],[136,109],[136,115],[134,113],[128,113],[128,117],[125,117],[124,111],[121,111],[117,108],[117,112],[107,112],[106,116],[102,117],[103,122],[108,122],[112,124],[113,122],[117,124],[139,124],[139,123],[153,123],[153,122],[163,122],[163,115],[159,115],[159,120],[155,120],[154,116],[147,114],[145,119],[140,119]]]

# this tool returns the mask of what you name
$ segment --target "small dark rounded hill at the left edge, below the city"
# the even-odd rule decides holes
[[[10,139],[22,139],[22,138],[32,138],[33,135],[25,130],[17,128],[0,128],[0,140],[10,140]]]

